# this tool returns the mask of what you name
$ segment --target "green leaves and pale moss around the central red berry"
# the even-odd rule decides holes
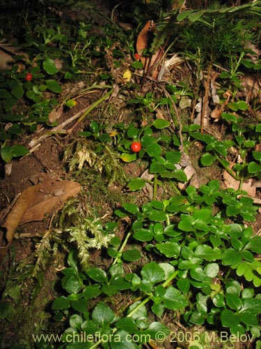
[[[90,149],[86,149],[84,144],[88,144],[87,142],[77,142],[77,150],[74,151],[74,156],[70,158],[72,154],[72,150],[68,148],[65,151],[65,157],[70,158],[70,168],[74,168],[75,165],[82,165],[83,161],[79,158],[79,154],[86,154],[86,162],[91,167],[92,163],[96,168],[101,168],[104,165],[114,166],[115,170],[111,170],[111,182],[116,181],[116,178],[121,176],[125,179],[124,174],[122,174],[122,170],[119,167],[117,159],[115,158],[116,152],[121,153],[118,157],[125,163],[136,161],[137,159],[143,159],[144,161],[148,161],[149,165],[149,173],[152,174],[152,181],[142,179],[142,178],[134,178],[129,181],[127,187],[130,191],[137,191],[145,186],[146,183],[154,184],[154,198],[157,195],[157,185],[161,181],[187,181],[187,176],[177,166],[180,163],[182,153],[178,149],[175,144],[175,138],[170,135],[160,134],[152,135],[153,132],[159,132],[164,128],[168,128],[170,126],[170,122],[165,119],[156,119],[151,124],[144,126],[143,128],[137,128],[134,124],[130,124],[128,127],[123,124],[116,124],[113,126],[113,129],[110,129],[107,125],[99,125],[95,121],[90,123],[90,131],[81,132],[80,135],[87,140],[95,140],[95,151],[90,151]],[[141,142],[141,151],[139,154],[132,152],[130,149],[130,145],[134,141]],[[166,148],[173,147],[176,150],[168,150]],[[89,147],[89,146],[88,146]],[[83,148],[85,150],[81,150]],[[78,154],[78,155],[77,155]],[[102,155],[104,154],[104,155]],[[99,156],[95,160],[95,158]],[[78,156],[78,158],[77,158]],[[111,161],[106,161],[108,156],[111,158]],[[102,165],[102,161],[104,165]],[[113,173],[117,174],[113,176]]]

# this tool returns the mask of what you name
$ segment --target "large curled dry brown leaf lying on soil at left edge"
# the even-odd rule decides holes
[[[45,214],[53,209],[61,209],[65,201],[76,196],[79,191],[81,191],[81,186],[77,182],[48,179],[22,191],[6,221],[1,225],[2,228],[6,228],[8,245],[12,241],[18,225],[30,221],[42,221]]]

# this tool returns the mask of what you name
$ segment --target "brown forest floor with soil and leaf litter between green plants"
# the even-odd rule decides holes
[[[88,11],[86,13],[70,12],[70,8],[67,9],[68,12],[66,12],[66,9],[63,10],[63,16],[65,18],[69,16],[70,20],[72,20],[72,17],[73,20],[78,20],[74,18],[77,15],[83,16],[85,20],[88,17],[88,21],[93,26],[92,32],[98,33],[100,27],[104,24],[103,21],[106,23],[104,18],[111,16],[111,8],[104,8],[104,1],[97,1],[97,10],[101,11],[104,15],[103,18],[101,16],[90,17],[93,13],[88,13]],[[118,15],[120,17],[120,13]],[[124,25],[125,27],[129,25],[132,28],[131,30],[133,30],[133,23],[121,24],[122,27]],[[30,154],[21,158],[13,158],[8,164],[1,163],[1,224],[3,224],[8,214],[13,212],[15,202],[19,200],[19,195],[22,195],[29,188],[40,186],[40,190],[33,194],[33,201],[28,205],[26,204],[27,211],[30,208],[35,209],[38,212],[39,218],[35,220],[35,215],[30,216],[31,213],[29,213],[29,218],[24,218],[24,220],[17,222],[15,231],[9,238],[5,236],[5,229],[3,229],[3,233],[0,236],[2,247],[0,251],[0,292],[3,294],[3,297],[8,297],[15,308],[14,313],[10,313],[8,319],[1,318],[1,348],[33,348],[31,339],[32,328],[34,333],[54,333],[54,328],[56,333],[61,331],[62,324],[56,323],[54,325],[50,310],[52,302],[62,292],[58,282],[61,281],[60,271],[66,265],[69,245],[65,246],[65,248],[58,248],[58,251],[54,254],[47,252],[52,254],[50,256],[51,258],[47,261],[39,262],[37,255],[35,257],[35,251],[37,251],[43,238],[52,235],[53,228],[59,230],[61,226],[66,226],[66,220],[70,220],[70,214],[66,216],[66,210],[64,210],[66,208],[68,209],[68,198],[70,200],[69,202],[74,202],[72,205],[77,205],[78,211],[81,211],[83,215],[88,215],[91,211],[90,216],[101,217],[102,223],[107,223],[114,219],[114,211],[122,207],[123,204],[133,203],[134,205],[141,206],[151,200],[168,200],[168,198],[171,198],[177,193],[177,188],[180,193],[183,193],[189,185],[200,188],[200,186],[214,180],[219,181],[221,189],[235,188],[237,190],[239,188],[239,181],[229,176],[228,172],[224,170],[220,163],[215,161],[208,167],[200,163],[200,158],[205,154],[205,148],[200,140],[193,140],[187,146],[184,153],[183,149],[181,149],[182,147],[180,147],[182,156],[184,154],[187,156],[187,165],[183,165],[183,169],[187,168],[189,181],[187,183],[175,181],[175,186],[173,187],[168,181],[162,180],[157,188],[156,197],[153,192],[154,188],[150,184],[139,191],[129,190],[127,186],[129,181],[137,177],[150,180],[151,177],[148,175],[148,161],[150,159],[148,158],[138,157],[136,161],[121,161],[118,158],[117,161],[120,164],[122,177],[124,178],[120,178],[120,170],[106,170],[106,163],[108,165],[109,158],[103,160],[103,170],[100,172],[95,168],[95,165],[92,165],[91,160],[89,162],[86,160],[86,163],[82,167],[79,166],[79,158],[74,158],[74,155],[77,154],[75,148],[77,144],[81,144],[81,149],[89,149],[88,151],[95,149],[97,144],[97,140],[95,140],[95,143],[93,140],[88,140],[88,138],[86,138],[87,140],[84,138],[85,140],[83,141],[83,138],[79,137],[79,133],[90,129],[90,123],[92,121],[95,121],[98,125],[106,125],[105,132],[112,135],[111,137],[113,137],[113,132],[115,132],[116,137],[117,132],[120,134],[120,131],[115,128],[116,124],[125,125],[127,128],[133,123],[137,128],[144,128],[146,125],[153,123],[155,119],[169,121],[170,126],[166,133],[161,128],[158,128],[152,133],[155,138],[162,134],[171,135],[171,137],[176,135],[177,138],[180,138],[180,126],[187,125],[189,124],[189,120],[191,121],[191,112],[195,101],[193,101],[190,95],[178,97],[180,99],[177,101],[179,103],[177,107],[179,114],[177,125],[175,125],[171,118],[168,104],[155,107],[157,101],[161,101],[161,98],[169,98],[169,94],[166,94],[166,81],[177,84],[179,82],[188,82],[191,84],[191,81],[196,79],[195,72],[191,68],[189,61],[184,59],[172,66],[168,70],[166,77],[164,77],[164,82],[158,81],[157,78],[155,79],[151,76],[143,78],[141,73],[132,73],[132,77],[129,80],[132,83],[132,87],[129,87],[129,81],[126,82],[124,74],[127,71],[127,67],[135,62],[135,58],[134,55],[127,52],[125,47],[120,47],[120,45],[122,43],[115,42],[111,47],[107,47],[106,51],[104,50],[104,68],[99,66],[97,71],[91,72],[90,75],[79,75],[75,80],[62,84],[63,91],[58,97],[60,98],[60,102],[65,100],[70,94],[76,97],[74,99],[77,101],[77,104],[73,107],[63,107],[60,111],[56,108],[56,112],[58,110],[59,114],[58,119],[56,119],[58,124],[62,124],[64,121],[77,115],[84,114],[86,108],[92,105],[92,103],[101,101],[97,103],[97,106],[81,122],[74,125],[75,121],[72,121],[68,126],[65,126],[65,130],[71,127],[70,132],[66,134],[49,134],[42,140],[39,140],[38,137],[45,133],[46,130],[38,125],[34,133],[19,138],[20,144],[23,144],[25,147],[28,147],[29,144],[34,142],[35,145],[31,147]],[[118,64],[115,64],[117,59],[113,57],[116,50],[119,50],[120,54],[122,52],[126,54],[124,59],[118,59]],[[5,59],[1,57],[1,64],[5,64]],[[90,60],[92,59],[95,60],[96,58],[90,57]],[[122,64],[122,61],[124,61],[124,64]],[[1,66],[1,68],[4,68],[4,66]],[[207,72],[205,71],[204,73]],[[106,84],[105,82],[100,82],[100,77],[106,74],[111,75],[111,80],[113,81],[111,87],[113,91],[108,98],[102,101],[109,88],[104,87]],[[95,88],[95,84],[97,88]],[[93,86],[93,89],[88,90],[90,86]],[[196,88],[196,86],[192,86],[191,90],[195,91]],[[128,102],[129,97],[136,98],[137,91],[139,96],[143,98],[143,106],[140,108],[137,107],[137,103]],[[240,98],[248,100],[249,98],[246,96],[248,93],[249,90],[245,89],[245,91],[241,92]],[[153,95],[154,101],[145,105],[144,98],[148,94]],[[210,101],[212,98],[211,94],[214,96],[214,92],[211,92],[209,89],[209,96],[207,96],[209,98],[209,107],[214,110],[214,103]],[[183,105],[181,105],[180,101],[183,102]],[[17,111],[21,111],[21,108],[22,105],[18,107]],[[174,110],[174,112],[177,112],[177,110]],[[200,124],[199,113],[195,109],[193,109],[193,113],[194,118],[192,124]],[[249,118],[248,115],[246,117]],[[252,122],[254,124],[259,124],[261,119],[260,112],[256,112],[253,119]],[[74,118],[74,120],[77,120],[77,118]],[[74,127],[72,128],[72,126]],[[209,117],[207,124],[204,126],[203,133],[211,136],[214,135],[216,139],[225,142],[230,139],[230,125],[224,124],[219,117],[216,119]],[[84,148],[85,146],[86,148]],[[255,149],[258,149],[258,142],[255,144]],[[68,152],[70,153],[70,157],[66,158]],[[235,161],[236,157],[237,150],[235,150],[234,154],[232,154],[232,151],[228,154],[231,164]],[[74,158],[74,163],[72,163],[72,158]],[[189,174],[189,170],[192,171],[191,175]],[[113,171],[119,172],[115,174]],[[113,176],[116,179],[110,178]],[[65,186],[68,182],[72,184],[72,188]],[[261,193],[258,178],[246,180],[243,189],[255,202],[259,202]],[[48,198],[50,201],[53,200],[49,209],[46,208],[47,202],[45,201],[46,197],[43,198],[43,192],[45,196],[49,195]],[[60,198],[59,195],[65,195],[65,198]],[[121,228],[117,232],[118,237],[122,238],[124,236],[127,225],[127,219],[126,221],[122,220]],[[258,209],[255,221],[248,222],[247,225],[253,228],[254,235],[260,234],[261,214]],[[3,228],[6,227],[3,225]],[[8,227],[7,229],[10,228]],[[65,234],[65,232],[60,232],[60,234]],[[63,240],[63,237],[61,239]],[[139,243],[136,245],[138,246]],[[137,248],[140,247],[138,246]],[[143,258],[146,260],[146,255]],[[111,263],[111,259],[108,258],[104,249],[91,249],[89,260],[90,266],[104,267],[105,269]],[[137,262],[136,269],[143,267],[144,260],[141,259],[139,263]],[[40,263],[40,265],[36,265],[38,267],[37,271],[32,272],[30,263]],[[31,273],[31,276],[27,277],[26,273]],[[168,322],[169,316],[166,313],[166,318],[163,320],[164,323]],[[177,323],[178,321],[175,322],[175,327],[173,327],[175,331],[177,329],[180,330]],[[197,325],[196,328],[199,330],[201,327]],[[158,346],[153,346],[152,343],[150,344],[151,346],[146,348],[159,348]],[[221,344],[210,343],[208,345],[209,347],[206,346],[205,348],[225,348]],[[251,348],[251,346],[252,343],[249,342],[247,346],[246,343],[237,342],[230,348]],[[179,343],[179,347],[190,348],[187,343],[183,346],[182,343]],[[165,343],[164,347],[161,346],[160,348],[177,348],[177,346],[173,346],[171,343],[168,343],[168,345]]]

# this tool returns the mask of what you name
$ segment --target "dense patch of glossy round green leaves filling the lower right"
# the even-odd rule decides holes
[[[261,253],[261,237],[239,223],[240,217],[251,221],[257,208],[253,202],[244,202],[244,212],[239,209],[230,215],[230,223],[225,223],[229,208],[245,199],[237,195],[236,191],[220,190],[218,181],[210,181],[198,190],[189,186],[186,195],[152,200],[141,207],[126,203],[117,209],[118,216],[131,219],[132,227],[122,247],[108,249],[113,258],[109,269],[81,269],[77,255],[70,252],[68,256],[70,267],[63,270],[61,280],[68,295],[58,297],[52,305],[56,320],[64,315],[70,319],[63,334],[65,342],[66,334],[73,332],[93,336],[88,348],[102,343],[104,334],[111,334],[102,343],[106,348],[115,348],[118,336],[124,339],[122,343],[140,339],[129,341],[130,348],[141,348],[143,341],[155,339],[159,331],[166,339],[171,329],[150,322],[148,309],[159,318],[165,311],[179,311],[187,325],[220,324],[231,334],[251,330],[257,338],[261,262],[255,255]],[[213,204],[219,208],[216,214]],[[140,251],[133,248],[135,241],[143,243]],[[141,269],[130,272],[123,268],[122,262],[140,260],[143,253],[150,262]],[[131,255],[134,257],[129,258]],[[124,315],[113,313],[100,301],[102,295],[124,299],[125,292],[135,292],[140,300],[134,298]],[[86,302],[90,299],[94,307]],[[125,347],[120,344],[117,348]]]

